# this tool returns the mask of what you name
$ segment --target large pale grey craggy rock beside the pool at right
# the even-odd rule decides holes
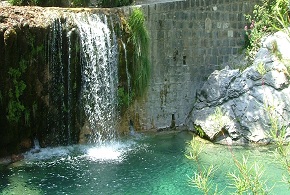
[[[274,128],[290,133],[290,38],[284,32],[264,39],[244,71],[214,71],[197,94],[189,117],[192,130],[214,142],[268,143]]]

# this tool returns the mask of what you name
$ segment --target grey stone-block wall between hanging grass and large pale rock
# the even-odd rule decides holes
[[[136,127],[185,124],[202,83],[241,52],[244,14],[252,13],[257,2],[183,0],[139,6],[151,38],[152,78],[146,98],[133,108]]]

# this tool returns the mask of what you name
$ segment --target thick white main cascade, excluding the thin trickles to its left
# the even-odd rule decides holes
[[[81,44],[82,104],[92,135],[102,142],[116,135],[118,44],[106,15],[76,13]]]

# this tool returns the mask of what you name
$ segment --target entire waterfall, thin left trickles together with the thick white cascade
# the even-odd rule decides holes
[[[52,17],[47,49],[50,83],[46,140],[56,145],[112,140],[118,121],[119,52],[116,34],[111,30],[114,21],[91,12]]]

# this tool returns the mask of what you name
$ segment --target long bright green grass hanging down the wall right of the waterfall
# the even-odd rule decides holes
[[[140,97],[146,91],[150,77],[149,35],[145,27],[145,16],[141,9],[134,9],[128,20],[129,42],[134,47],[133,91]]]

